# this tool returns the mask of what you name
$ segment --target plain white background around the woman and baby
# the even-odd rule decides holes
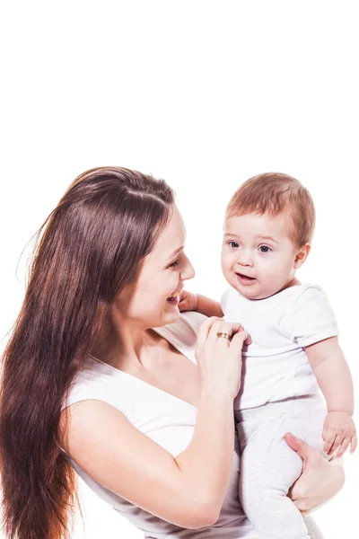
[[[355,4],[4,3],[1,348],[22,303],[22,249],[78,173],[118,164],[167,180],[197,270],[188,288],[219,298],[226,201],[253,174],[286,172],[318,213],[298,277],[328,294],[358,399]],[[326,539],[357,533],[358,455],[346,457],[344,490],[316,513]],[[142,536],[83,483],[81,494],[74,539]]]

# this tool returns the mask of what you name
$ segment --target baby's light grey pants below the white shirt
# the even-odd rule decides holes
[[[261,539],[310,539],[300,511],[287,497],[302,473],[302,459],[284,436],[291,432],[322,452],[326,414],[317,394],[234,411],[241,446],[241,506]]]

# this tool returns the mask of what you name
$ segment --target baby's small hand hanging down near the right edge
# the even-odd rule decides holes
[[[357,438],[353,418],[344,411],[328,411],[322,437],[324,451],[328,455],[333,455],[339,447],[337,452],[337,458],[339,458],[346,453],[349,446],[350,453],[354,453]]]

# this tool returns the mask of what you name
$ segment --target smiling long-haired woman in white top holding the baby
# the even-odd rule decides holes
[[[127,169],[84,172],[41,230],[4,352],[6,536],[69,537],[75,470],[146,537],[257,537],[237,498],[232,413],[250,337],[180,314],[194,270],[171,188]],[[304,457],[292,497],[318,506],[343,472],[288,442]]]

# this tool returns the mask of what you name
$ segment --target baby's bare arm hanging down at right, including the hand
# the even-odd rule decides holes
[[[324,421],[324,451],[332,455],[340,446],[341,456],[350,446],[355,451],[353,380],[337,337],[320,340],[304,347],[311,367],[327,401],[328,415]]]

